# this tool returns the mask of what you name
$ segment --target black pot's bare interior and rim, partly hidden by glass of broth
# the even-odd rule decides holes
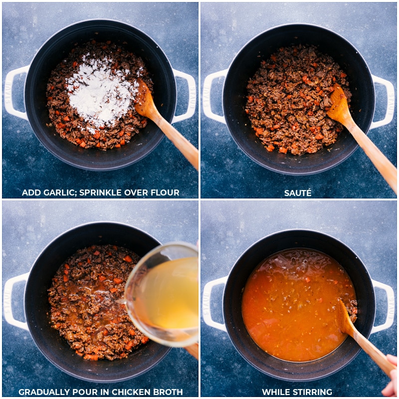
[[[124,246],[144,256],[160,242],[135,227],[113,222],[83,224],[61,234],[41,252],[29,273],[24,296],[26,323],[42,354],[63,372],[91,382],[123,381],[150,370],[171,348],[150,341],[125,359],[87,361],[50,327],[47,290],[51,279],[68,256],[93,244]]]

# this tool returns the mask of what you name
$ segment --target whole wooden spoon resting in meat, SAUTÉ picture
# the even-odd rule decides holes
[[[351,113],[349,112],[348,102],[344,91],[338,83],[334,85],[331,94],[333,105],[327,111],[327,115],[335,121],[341,122],[352,134],[359,146],[373,162],[374,166],[381,173],[383,178],[397,194],[397,169],[388,158],[377,148],[377,146],[366,136],[366,134],[356,125]]]

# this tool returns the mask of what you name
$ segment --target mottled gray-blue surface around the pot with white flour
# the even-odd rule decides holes
[[[6,73],[29,65],[50,36],[71,23],[94,18],[119,20],[144,31],[161,47],[172,67],[193,76],[198,87],[198,3],[11,2],[2,4],[3,89]],[[14,107],[21,111],[24,79],[24,74],[17,76],[13,88]],[[180,115],[187,108],[188,90],[183,79],[177,79],[177,85],[176,114]],[[198,147],[198,104],[192,118],[174,126]],[[3,107],[2,150],[3,198],[22,198],[24,189],[41,190],[37,198],[48,198],[44,189],[121,189],[120,198],[138,197],[125,195],[126,189],[172,189],[179,190],[179,196],[172,198],[198,198],[197,171],[167,138],[132,166],[113,172],[85,171],[51,155],[29,123],[7,114]],[[151,198],[151,192],[145,198]]]

